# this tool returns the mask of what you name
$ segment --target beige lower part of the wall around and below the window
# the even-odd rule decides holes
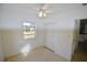
[[[23,40],[21,30],[1,30],[1,33],[6,57],[21,53],[21,50],[28,44],[31,48],[44,45],[43,31],[36,31],[35,39],[28,41]]]

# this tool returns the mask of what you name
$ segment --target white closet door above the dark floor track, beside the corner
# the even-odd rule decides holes
[[[52,24],[45,25],[46,47],[54,52],[54,29]]]

